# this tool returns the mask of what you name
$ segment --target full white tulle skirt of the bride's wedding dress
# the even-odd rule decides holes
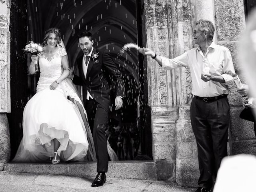
[[[61,161],[84,161],[89,146],[85,118],[61,90],[36,93],[24,108],[23,138],[12,161],[47,161],[54,154],[54,138],[60,142]]]

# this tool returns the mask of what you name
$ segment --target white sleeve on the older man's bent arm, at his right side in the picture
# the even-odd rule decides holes
[[[222,74],[221,76],[224,78],[225,84],[233,85],[234,84],[233,75],[235,74],[235,69],[234,69],[232,57],[228,48],[226,48],[224,51],[223,72],[224,74]]]

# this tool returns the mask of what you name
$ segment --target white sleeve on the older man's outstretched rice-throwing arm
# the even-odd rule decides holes
[[[174,58],[174,59],[169,59],[166,57],[161,57],[162,60],[162,68],[164,70],[171,70],[171,69],[176,69],[179,67],[188,67],[188,54],[185,52],[184,54]]]

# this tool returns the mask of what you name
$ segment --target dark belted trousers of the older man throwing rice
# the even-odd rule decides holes
[[[193,98],[190,107],[192,129],[196,137],[200,177],[198,185],[212,187],[222,158],[227,156],[228,98],[204,102]]]

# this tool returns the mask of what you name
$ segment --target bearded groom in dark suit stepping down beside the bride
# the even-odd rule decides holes
[[[112,60],[108,51],[93,48],[94,40],[90,32],[80,32],[78,42],[83,55],[78,57],[76,64],[79,76],[74,75],[73,82],[83,86],[83,101],[92,131],[97,158],[97,176],[92,187],[102,186],[106,182],[108,172],[108,150],[105,134],[110,111],[110,87],[114,83],[116,110],[122,107],[124,82],[120,70]]]

